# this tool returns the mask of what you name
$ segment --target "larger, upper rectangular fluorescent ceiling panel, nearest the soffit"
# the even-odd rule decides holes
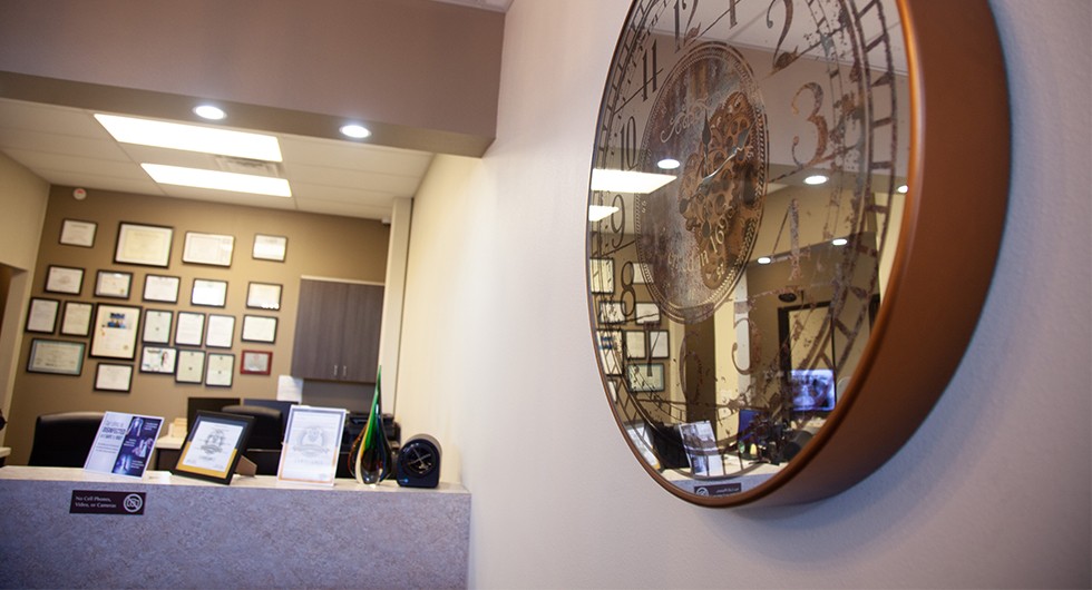
[[[281,161],[281,146],[271,135],[116,115],[96,114],[95,118],[123,144]]]

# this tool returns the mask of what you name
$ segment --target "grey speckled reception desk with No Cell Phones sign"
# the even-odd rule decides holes
[[[125,505],[85,513],[111,496]],[[162,471],[137,480],[9,465],[0,501],[6,588],[467,584],[470,494],[452,484],[304,488],[235,475],[218,485]]]

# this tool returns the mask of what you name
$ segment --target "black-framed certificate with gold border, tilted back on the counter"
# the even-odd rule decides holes
[[[253,423],[250,416],[198,411],[170,472],[230,484]]]

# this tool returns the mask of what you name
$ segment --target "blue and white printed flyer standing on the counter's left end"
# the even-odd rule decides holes
[[[86,471],[143,478],[163,419],[120,412],[107,412],[99,424],[91,451],[84,462]]]

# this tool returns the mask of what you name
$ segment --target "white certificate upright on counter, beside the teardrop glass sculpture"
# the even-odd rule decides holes
[[[293,405],[284,430],[277,481],[333,485],[345,411]]]

